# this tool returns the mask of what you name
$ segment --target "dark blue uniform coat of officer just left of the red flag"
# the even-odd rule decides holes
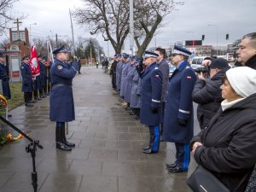
[[[23,92],[32,92],[32,72],[28,64],[22,62],[20,66],[21,77],[22,77],[22,91]]]

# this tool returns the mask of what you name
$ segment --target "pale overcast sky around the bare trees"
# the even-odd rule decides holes
[[[256,32],[256,1],[255,0],[183,0],[184,5],[179,6],[165,20],[167,24],[160,28],[149,47],[167,47],[176,41],[197,40],[205,35],[203,44],[218,45],[233,43],[248,32]],[[68,9],[83,6],[81,0],[20,0],[15,3],[13,15],[27,15],[22,20],[20,29],[31,26],[32,37],[47,38],[55,33],[60,38],[71,38],[71,25]],[[37,25],[30,25],[37,23]],[[214,25],[214,26],[208,26]],[[15,24],[13,24],[15,27]],[[84,27],[74,25],[75,37],[90,38],[89,31]],[[230,39],[225,40],[226,34]],[[108,43],[97,38],[105,53],[108,55]],[[5,38],[3,36],[3,38]],[[129,49],[129,40],[125,43],[125,49]],[[113,49],[109,43],[109,55],[113,55]]]

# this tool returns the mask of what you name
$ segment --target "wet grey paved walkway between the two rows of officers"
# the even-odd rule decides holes
[[[55,123],[49,121],[49,97],[33,108],[20,106],[9,120],[40,140],[36,164],[40,192],[187,192],[189,173],[171,174],[172,143],[160,143],[159,154],[143,154],[148,128],[118,103],[110,77],[101,68],[83,67],[73,80],[76,120],[68,137],[72,152],[55,149]],[[63,103],[65,105],[65,103]],[[0,191],[30,192],[32,158],[22,139],[0,148]],[[194,166],[192,166],[194,167]]]

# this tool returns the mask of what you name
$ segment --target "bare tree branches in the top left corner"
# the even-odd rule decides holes
[[[15,2],[19,0],[0,0],[0,32],[6,28],[9,21],[15,20],[12,15],[9,15],[9,10],[13,8]]]

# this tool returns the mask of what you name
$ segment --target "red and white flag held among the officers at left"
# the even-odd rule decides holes
[[[38,62],[37,49],[34,45],[32,45],[30,50],[29,66],[32,72],[32,79],[36,79],[36,77],[40,74],[40,66]]]

